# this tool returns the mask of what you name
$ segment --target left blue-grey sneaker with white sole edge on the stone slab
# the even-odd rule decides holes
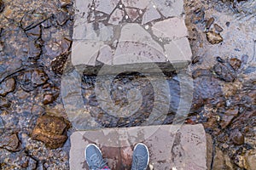
[[[107,161],[103,159],[102,151],[96,144],[88,144],[84,150],[84,156],[90,170],[108,168]]]

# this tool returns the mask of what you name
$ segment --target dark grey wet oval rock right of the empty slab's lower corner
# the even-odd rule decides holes
[[[218,78],[224,80],[225,82],[233,82],[235,80],[235,76],[230,68],[222,63],[217,63],[214,65],[213,71],[218,75]]]

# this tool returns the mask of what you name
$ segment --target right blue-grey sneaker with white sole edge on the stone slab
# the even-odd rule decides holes
[[[145,144],[136,144],[133,155],[131,170],[145,170],[148,167],[149,153]]]

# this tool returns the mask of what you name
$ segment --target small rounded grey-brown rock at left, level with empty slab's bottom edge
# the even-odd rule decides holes
[[[32,77],[31,77],[32,85],[33,86],[40,86],[44,84],[45,82],[48,81],[48,76],[44,71],[41,70],[36,70],[32,72]]]

